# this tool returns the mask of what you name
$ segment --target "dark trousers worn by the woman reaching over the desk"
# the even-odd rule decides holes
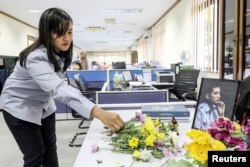
[[[42,126],[23,121],[3,111],[5,122],[21,152],[24,167],[58,167],[55,113],[42,120]]]

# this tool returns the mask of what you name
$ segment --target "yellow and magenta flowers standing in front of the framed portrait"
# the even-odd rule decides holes
[[[186,144],[185,160],[169,160],[167,166],[191,167],[207,166],[208,151],[247,150],[247,136],[250,135],[250,124],[241,127],[238,123],[219,117],[211,123],[207,132],[191,129],[186,135],[192,142]]]

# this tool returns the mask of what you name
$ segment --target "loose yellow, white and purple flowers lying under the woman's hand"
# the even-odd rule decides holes
[[[178,123],[174,118],[164,124],[159,119],[136,113],[125,122],[123,130],[110,133],[107,131],[112,151],[131,154],[134,161],[147,162],[151,157],[161,159],[181,151],[177,142]],[[96,146],[93,148],[98,150]]]

